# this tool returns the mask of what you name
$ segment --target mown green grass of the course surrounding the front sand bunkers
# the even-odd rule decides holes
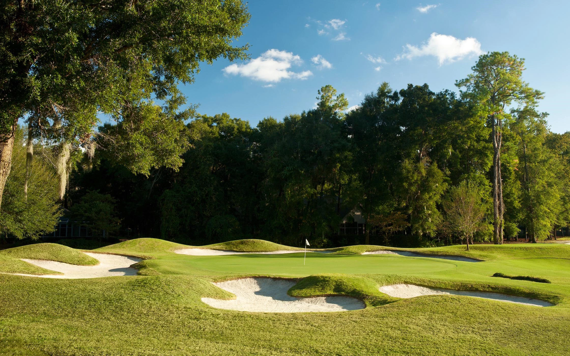
[[[250,248],[258,248],[253,244]],[[0,275],[0,354],[570,355],[570,245],[475,245],[469,253],[464,246],[414,250],[486,260],[477,263],[307,253],[305,266],[302,253],[171,252],[184,247],[138,239],[97,250],[151,257],[137,264],[143,276],[55,280]],[[362,247],[346,249],[354,253]],[[492,277],[496,272],[552,283]],[[347,294],[363,299],[367,308],[246,313],[200,301],[231,297],[210,281],[246,275],[304,277],[291,295]],[[380,285],[397,283],[503,292],[556,305],[538,308],[462,296],[402,300],[378,291]]]

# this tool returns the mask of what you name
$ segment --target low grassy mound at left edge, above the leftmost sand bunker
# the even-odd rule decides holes
[[[59,244],[41,243],[19,246],[0,251],[0,255],[15,259],[48,260],[83,266],[99,264],[99,261],[85,253]]]

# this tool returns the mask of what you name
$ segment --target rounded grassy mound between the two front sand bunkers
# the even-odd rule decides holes
[[[384,305],[399,300],[380,293],[378,284],[370,279],[342,274],[305,277],[287,293],[294,297],[350,296],[363,300],[367,306]]]

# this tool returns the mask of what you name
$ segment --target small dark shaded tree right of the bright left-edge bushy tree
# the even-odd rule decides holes
[[[113,235],[120,226],[120,219],[115,212],[115,199],[97,191],[88,191],[71,207],[69,216],[72,221],[88,227],[93,236]]]

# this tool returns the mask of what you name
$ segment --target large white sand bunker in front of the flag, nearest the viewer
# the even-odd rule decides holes
[[[287,290],[296,284],[287,279],[250,277],[214,283],[235,294],[233,300],[202,298],[218,309],[261,313],[345,312],[364,309],[364,302],[352,297],[291,297]]]

